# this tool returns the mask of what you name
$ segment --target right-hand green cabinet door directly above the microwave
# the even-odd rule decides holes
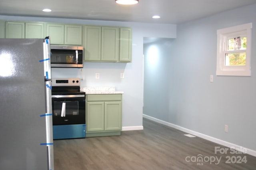
[[[82,26],[81,25],[65,25],[65,45],[82,45]]]

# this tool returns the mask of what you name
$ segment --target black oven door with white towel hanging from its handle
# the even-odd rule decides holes
[[[52,123],[85,124],[85,95],[52,95]]]

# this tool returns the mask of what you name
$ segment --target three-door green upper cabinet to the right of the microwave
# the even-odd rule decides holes
[[[85,62],[131,62],[132,29],[84,26]]]

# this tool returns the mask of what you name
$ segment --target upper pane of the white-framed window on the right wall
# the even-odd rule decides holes
[[[246,37],[235,37],[228,40],[228,51],[246,50]]]

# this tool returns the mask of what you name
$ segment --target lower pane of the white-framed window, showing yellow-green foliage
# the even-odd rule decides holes
[[[245,66],[246,52],[230,53],[225,56],[225,66]]]

